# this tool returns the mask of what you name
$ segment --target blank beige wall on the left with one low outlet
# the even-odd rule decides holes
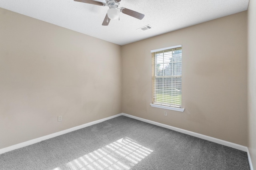
[[[0,148],[122,113],[121,69],[120,45],[0,8]]]

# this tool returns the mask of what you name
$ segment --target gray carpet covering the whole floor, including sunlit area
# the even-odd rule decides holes
[[[0,154],[1,170],[249,170],[246,152],[120,116]]]

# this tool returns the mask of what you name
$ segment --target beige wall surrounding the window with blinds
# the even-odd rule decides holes
[[[246,29],[241,12],[123,45],[123,113],[247,146]],[[151,107],[150,50],[180,44],[185,111]]]

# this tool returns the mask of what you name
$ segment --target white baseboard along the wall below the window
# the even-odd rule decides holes
[[[198,138],[201,138],[201,139],[205,139],[205,140],[209,140],[211,142],[214,142],[214,143],[218,143],[218,144],[222,144],[224,146],[229,146],[231,148],[235,148],[235,149],[238,149],[238,150],[242,150],[244,152],[247,152],[248,151],[248,148],[246,146],[242,146],[240,144],[235,144],[235,143],[232,143],[232,142],[228,142],[228,141],[225,141],[225,140],[221,140],[221,139],[218,139],[218,138],[213,138],[213,137],[210,137],[210,136],[206,136],[204,134],[200,134],[200,133],[196,133],[196,132],[191,132],[189,130],[184,130],[182,128],[176,128],[176,127],[172,127],[172,126],[169,126],[169,125],[165,125],[165,124],[162,124],[162,123],[158,123],[158,122],[154,122],[154,121],[150,121],[150,120],[147,120],[147,119],[143,119],[143,118],[140,118],[140,117],[136,117],[136,116],[132,116],[132,115],[128,115],[126,113],[122,113],[123,116],[126,116],[126,117],[130,117],[130,118],[133,118],[133,119],[137,119],[139,121],[143,121],[143,122],[146,122],[146,123],[150,123],[150,124],[153,124],[153,125],[156,125],[156,126],[159,126],[159,127],[164,127],[164,128],[168,128],[168,129],[171,129],[171,130],[175,130],[177,132],[181,132],[181,133],[184,133],[184,134],[189,134],[190,136],[195,136],[195,137],[198,137]]]

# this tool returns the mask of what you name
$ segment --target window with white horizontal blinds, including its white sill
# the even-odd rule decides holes
[[[152,50],[151,53],[151,106],[184,111],[181,109],[182,45]]]

